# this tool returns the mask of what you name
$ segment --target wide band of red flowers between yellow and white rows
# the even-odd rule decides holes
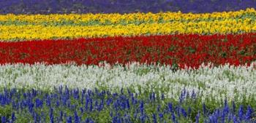
[[[198,67],[202,63],[241,65],[256,60],[256,33],[240,35],[170,35],[101,39],[1,42],[0,63],[44,62],[97,65],[160,63]]]

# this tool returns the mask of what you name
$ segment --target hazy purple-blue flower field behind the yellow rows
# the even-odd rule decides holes
[[[255,8],[255,0],[0,0],[0,14],[222,12]]]

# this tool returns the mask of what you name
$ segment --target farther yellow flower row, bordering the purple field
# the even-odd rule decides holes
[[[205,14],[184,14],[181,12],[159,12],[153,14],[148,13],[132,13],[132,14],[70,14],[70,15],[0,15],[0,21],[22,21],[28,23],[42,23],[42,22],[61,22],[64,20],[71,20],[75,23],[88,22],[90,20],[99,20],[101,23],[110,21],[110,23],[119,23],[121,21],[158,21],[158,20],[198,20],[198,19],[228,19],[230,17],[240,17],[244,14],[250,14],[256,16],[255,9],[246,9],[236,12],[214,12]]]

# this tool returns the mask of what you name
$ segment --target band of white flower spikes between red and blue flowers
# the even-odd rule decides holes
[[[75,65],[1,65],[0,87],[53,90],[53,87],[117,90],[132,87],[165,92],[168,98],[178,98],[181,90],[195,91],[201,98],[229,100],[256,97],[255,64],[251,66],[200,66],[172,71],[171,66],[148,66],[130,63],[124,66]]]

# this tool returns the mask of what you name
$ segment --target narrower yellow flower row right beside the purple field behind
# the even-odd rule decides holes
[[[171,21],[214,21],[214,20],[236,20],[252,21],[255,23],[256,11],[254,8],[235,12],[214,12],[203,14],[185,14],[181,12],[159,12],[131,13],[131,14],[69,14],[69,15],[0,15],[1,25],[110,25],[129,23],[168,23]],[[239,20],[240,19],[240,20]]]

